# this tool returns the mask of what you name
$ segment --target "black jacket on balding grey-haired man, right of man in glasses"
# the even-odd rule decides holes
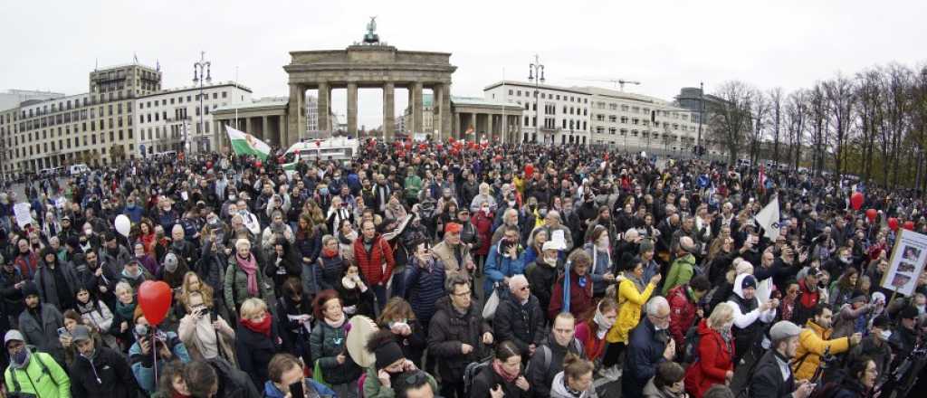
[[[525,305],[509,294],[496,308],[492,322],[494,340],[510,340],[518,346],[522,355],[527,355],[529,345],[537,347],[544,340],[545,312],[540,309],[540,302],[534,294],[528,296]]]

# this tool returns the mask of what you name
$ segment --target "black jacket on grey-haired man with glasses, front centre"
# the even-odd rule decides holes
[[[465,314],[457,312],[451,305],[450,296],[438,299],[438,311],[428,324],[428,352],[438,358],[438,374],[441,379],[462,380],[464,368],[484,356],[483,333],[490,331],[483,321],[482,313],[471,304]],[[473,346],[470,354],[463,354],[463,344]]]

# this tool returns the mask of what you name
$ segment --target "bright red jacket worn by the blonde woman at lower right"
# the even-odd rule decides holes
[[[715,384],[724,384],[728,370],[734,369],[734,341],[724,342],[721,334],[708,328],[703,319],[698,324],[699,359],[686,370],[686,391],[692,398],[702,395]]]

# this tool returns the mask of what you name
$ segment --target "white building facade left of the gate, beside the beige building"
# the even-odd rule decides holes
[[[139,154],[154,155],[166,151],[197,154],[214,151],[211,111],[219,106],[251,101],[251,89],[233,81],[181,87],[152,93],[135,100]],[[200,121],[202,120],[202,123]]]

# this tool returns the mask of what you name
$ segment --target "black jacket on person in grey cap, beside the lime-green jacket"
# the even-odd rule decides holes
[[[135,398],[138,383],[124,356],[96,347],[93,364],[79,355],[70,366],[70,393],[74,398]]]

